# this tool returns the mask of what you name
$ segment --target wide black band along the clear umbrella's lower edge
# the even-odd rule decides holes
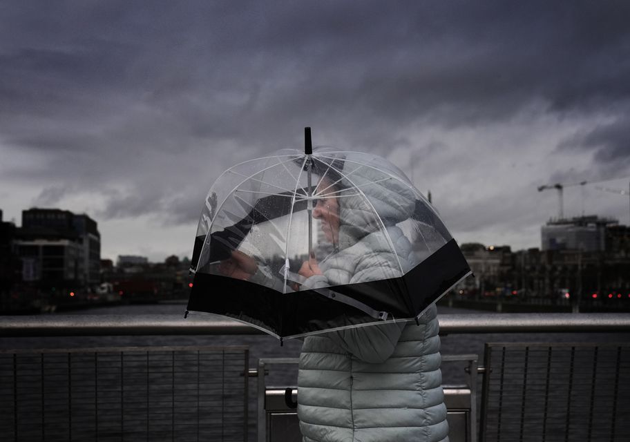
[[[400,278],[327,287],[389,318],[413,318],[470,272],[457,242],[450,240]],[[196,273],[189,311],[204,311],[251,323],[277,336],[374,323],[372,316],[318,291],[281,294],[253,282]]]

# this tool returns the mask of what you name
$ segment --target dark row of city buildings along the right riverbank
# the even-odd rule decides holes
[[[459,288],[474,296],[630,302],[630,227],[586,216],[548,222],[541,233],[542,249],[461,244],[475,278]]]

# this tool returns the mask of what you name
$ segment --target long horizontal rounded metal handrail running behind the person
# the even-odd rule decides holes
[[[630,332],[630,314],[443,314],[441,334]],[[157,315],[0,316],[0,337],[265,334],[236,320]]]

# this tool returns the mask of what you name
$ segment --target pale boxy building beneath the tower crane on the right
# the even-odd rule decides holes
[[[616,224],[597,215],[549,221],[541,228],[542,250],[604,251],[607,229]]]

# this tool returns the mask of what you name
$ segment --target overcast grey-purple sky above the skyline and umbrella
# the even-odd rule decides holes
[[[223,169],[383,155],[455,239],[629,222],[627,1],[0,1],[0,209],[87,213],[102,257],[190,256]],[[618,180],[594,183],[600,180]]]

